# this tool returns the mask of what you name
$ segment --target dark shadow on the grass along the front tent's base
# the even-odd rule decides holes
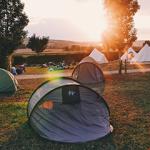
[[[113,140],[113,134],[109,134],[102,139],[98,139],[86,143],[60,143],[49,141],[41,138],[37,133],[33,131],[28,122],[22,124],[19,128],[6,133],[8,139],[0,145],[1,150],[116,150],[116,145]]]

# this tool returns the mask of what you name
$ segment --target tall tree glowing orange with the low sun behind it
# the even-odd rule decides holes
[[[140,8],[137,0],[104,0],[108,28],[103,34],[107,50],[123,51],[137,39],[133,16]]]

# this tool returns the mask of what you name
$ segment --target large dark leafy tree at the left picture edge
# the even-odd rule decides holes
[[[8,69],[7,58],[21,44],[29,20],[20,0],[0,0],[0,67]]]

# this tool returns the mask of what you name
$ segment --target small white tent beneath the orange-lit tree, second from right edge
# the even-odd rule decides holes
[[[122,61],[127,61],[130,62],[130,60],[135,57],[137,55],[137,53],[130,47],[122,56],[121,56],[121,60]]]

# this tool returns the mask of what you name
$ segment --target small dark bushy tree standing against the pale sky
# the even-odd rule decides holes
[[[38,37],[35,34],[33,34],[30,38],[29,38],[29,42],[27,44],[28,48],[31,48],[33,51],[40,53],[42,52],[49,41],[49,37]]]

